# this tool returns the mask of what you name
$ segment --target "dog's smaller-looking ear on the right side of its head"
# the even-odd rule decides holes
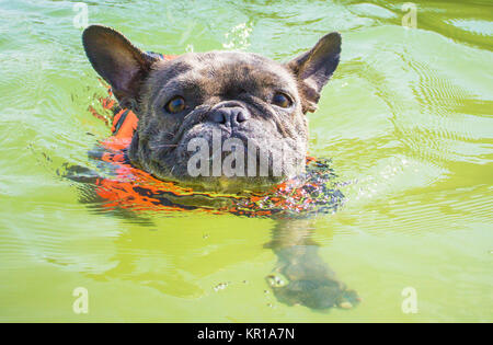
[[[313,48],[286,64],[298,79],[303,113],[317,110],[320,92],[337,68],[340,55],[341,35],[330,33]]]

